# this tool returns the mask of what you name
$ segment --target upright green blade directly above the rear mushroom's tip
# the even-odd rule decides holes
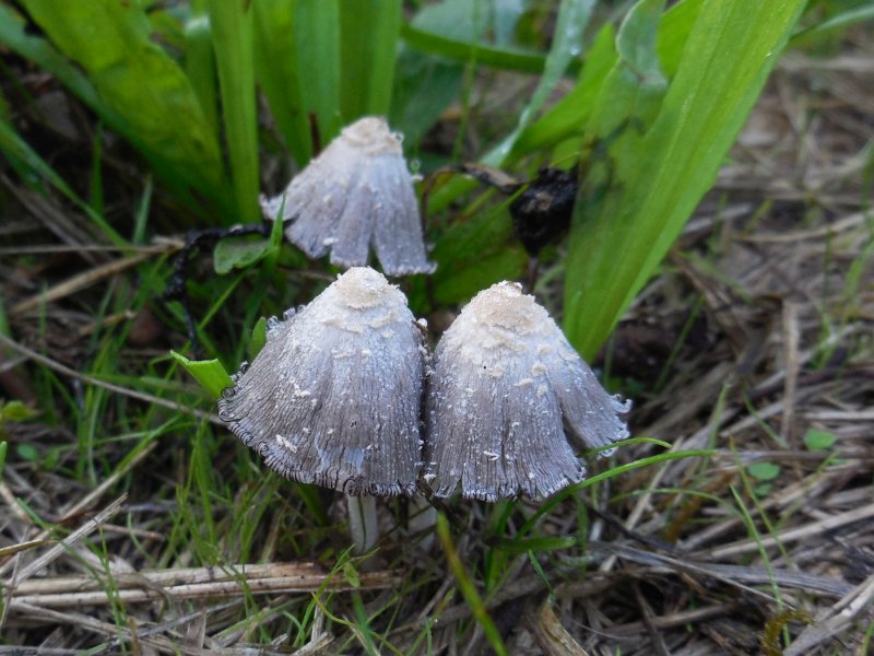
[[[340,108],[343,122],[365,115],[388,114],[400,28],[400,0],[342,3]]]

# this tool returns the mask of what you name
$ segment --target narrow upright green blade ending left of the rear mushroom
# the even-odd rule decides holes
[[[255,103],[252,13],[249,0],[209,0],[212,40],[218,67],[222,117],[231,161],[237,221],[257,221],[258,116]]]

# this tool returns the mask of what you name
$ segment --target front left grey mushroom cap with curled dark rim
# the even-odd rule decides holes
[[[268,325],[218,418],[281,476],[354,496],[413,494],[425,349],[406,298],[350,269]]]

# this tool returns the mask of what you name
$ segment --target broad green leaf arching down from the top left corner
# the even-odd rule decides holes
[[[92,107],[107,125],[142,151],[166,184],[180,191],[193,188],[224,207],[216,137],[188,78],[152,42],[143,7],[115,0],[24,0],[22,4],[51,44],[84,69],[99,98]],[[43,56],[37,60],[40,66],[45,59],[57,62],[57,57],[47,55],[47,44],[25,45]],[[69,75],[59,79],[64,84],[70,81]],[[73,82],[74,93],[83,90],[81,79]],[[86,92],[83,99],[93,96]]]

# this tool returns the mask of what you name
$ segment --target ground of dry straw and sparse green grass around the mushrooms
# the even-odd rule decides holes
[[[0,386],[38,412],[0,425],[0,653],[487,653],[446,549],[511,654],[866,653],[873,69],[870,39],[780,66],[602,363],[636,399],[635,435],[708,455],[609,478],[530,532],[533,505],[453,502],[442,550],[386,504],[365,562],[330,495],[310,493],[317,520],[229,434],[210,442],[182,378],[162,378],[184,338],[165,335],[181,324],[155,272],[178,244],[91,248],[84,219],[0,168],[16,336]]]

